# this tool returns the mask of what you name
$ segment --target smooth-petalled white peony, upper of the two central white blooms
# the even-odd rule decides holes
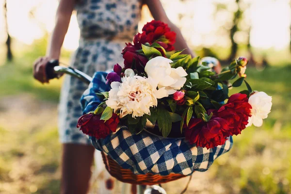
[[[164,57],[155,57],[146,63],[147,76],[158,81],[159,90],[163,90],[164,97],[174,94],[181,89],[186,82],[188,74],[183,67],[172,68],[172,60]]]

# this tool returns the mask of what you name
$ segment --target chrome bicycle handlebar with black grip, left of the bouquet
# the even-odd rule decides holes
[[[51,60],[48,62],[46,67],[46,74],[48,79],[57,78],[62,73],[69,74],[88,84],[92,81],[90,76],[79,71],[78,69],[73,67],[59,66],[58,60]]]

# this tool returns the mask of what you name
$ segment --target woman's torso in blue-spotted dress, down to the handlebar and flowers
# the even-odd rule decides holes
[[[141,6],[141,0],[80,0],[75,7],[80,41],[71,65],[90,76],[122,65],[121,52],[137,33]]]

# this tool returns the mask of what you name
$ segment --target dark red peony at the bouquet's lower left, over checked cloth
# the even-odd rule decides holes
[[[79,118],[77,128],[81,127],[80,130],[86,135],[96,137],[96,139],[104,139],[112,131],[116,131],[119,117],[113,113],[112,117],[105,123],[100,118],[100,114],[84,114]]]

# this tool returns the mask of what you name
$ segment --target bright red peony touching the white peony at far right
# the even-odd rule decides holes
[[[252,106],[248,103],[248,98],[245,94],[234,94],[229,97],[227,103],[218,111],[215,111],[216,116],[226,119],[229,122],[229,135],[238,135],[248,124],[248,118],[251,116]]]

